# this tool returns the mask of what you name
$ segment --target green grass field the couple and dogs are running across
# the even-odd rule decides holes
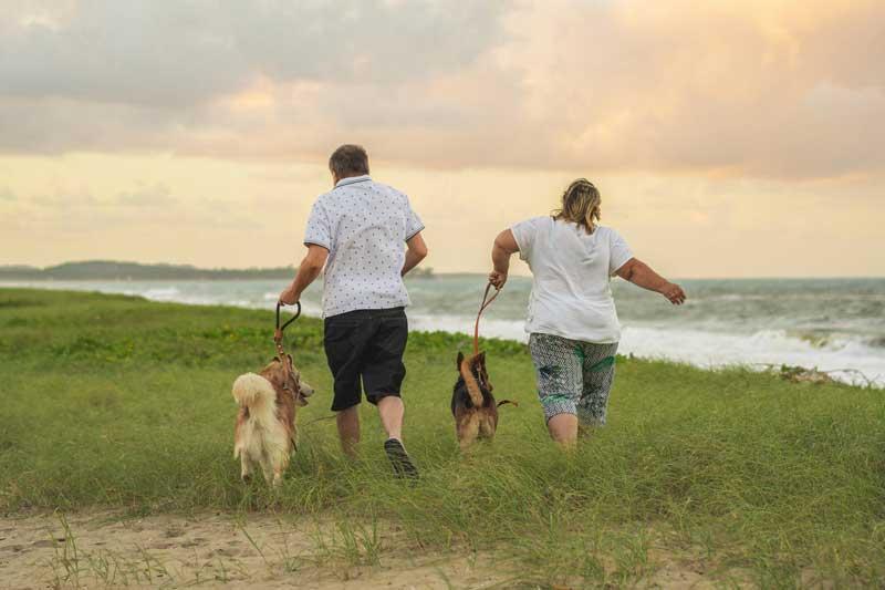
[[[321,324],[302,319],[288,346],[317,393],[273,494],[239,482],[229,393],[272,354],[272,321],[0,290],[0,509],[313,515],[342,535],[372,531],[367,562],[396,530],[408,551],[493,549],[525,583],[633,584],[662,556],[763,587],[885,579],[881,390],[621,358],[610,425],[566,456],[548,441],[524,346],[489,340],[496,394],[521,405],[502,407],[496,441],[465,458],[448,404],[469,339],[416,333],[405,435],[423,477],[408,486],[389,476],[365,404],[363,458],[341,458],[322,420]]]

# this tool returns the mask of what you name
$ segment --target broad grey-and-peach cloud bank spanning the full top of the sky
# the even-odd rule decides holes
[[[71,1],[0,29],[0,151],[885,172],[885,4]]]

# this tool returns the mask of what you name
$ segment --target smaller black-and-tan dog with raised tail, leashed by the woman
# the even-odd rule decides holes
[[[498,429],[498,407],[503,404],[519,405],[510,400],[496,403],[491,394],[489,373],[486,371],[486,353],[469,359],[458,353],[458,382],[451,393],[451,415],[455,416],[455,433],[461,451],[466,451],[477,438],[491,438]]]

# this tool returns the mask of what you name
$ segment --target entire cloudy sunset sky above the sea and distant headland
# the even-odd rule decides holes
[[[437,271],[488,270],[587,177],[668,276],[885,276],[883,23],[881,0],[0,0],[0,265],[296,265],[357,143]]]

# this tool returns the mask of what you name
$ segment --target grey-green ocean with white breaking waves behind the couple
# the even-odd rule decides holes
[[[2,286],[142,296],[154,301],[273,309],[285,281],[41,281]],[[472,331],[485,277],[451,275],[407,281],[413,330]],[[684,280],[685,306],[631,283],[612,283],[623,327],[620,352],[704,368],[800,365],[846,382],[885,385],[885,279]],[[531,279],[511,277],[483,315],[486,337],[527,339]],[[304,312],[320,314],[321,289]],[[269,318],[269,322],[270,322]],[[270,329],[270,325],[269,325]]]

